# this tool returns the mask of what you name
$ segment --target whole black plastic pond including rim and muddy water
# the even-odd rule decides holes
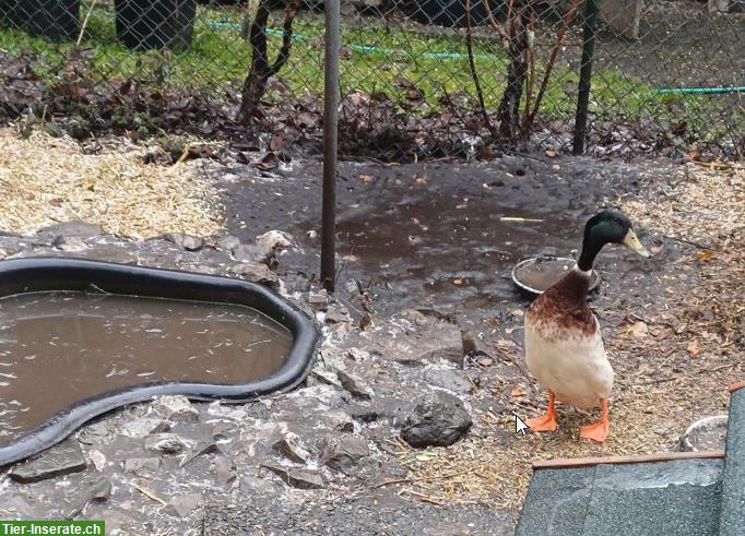
[[[76,259],[0,262],[0,465],[158,395],[248,402],[296,386],[319,334],[240,279]]]

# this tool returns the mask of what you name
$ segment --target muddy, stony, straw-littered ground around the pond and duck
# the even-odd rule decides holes
[[[718,233],[713,218],[691,237],[681,211],[658,217],[698,180],[669,163],[345,163],[332,297],[316,283],[318,163],[261,171],[227,158],[203,171],[241,242],[276,229],[292,237],[276,252],[277,277],[262,277],[323,325],[311,376],[251,404],[166,400],[115,412],[47,453],[71,452],[78,472],[34,484],[3,472],[0,517],[105,519],[111,534],[510,534],[532,460],[674,451],[691,421],[726,412],[725,388],[745,373],[734,279],[742,226]],[[728,180],[714,186],[742,195],[742,178]],[[523,372],[530,300],[513,290],[511,266],[573,255],[584,219],[607,204],[640,214],[637,231],[653,252],[643,260],[610,247],[595,266],[602,284],[591,300],[616,370],[611,437],[579,441],[595,416],[571,408],[559,409],[557,432],[517,436],[513,414],[536,415],[544,393]],[[736,207],[716,207],[736,221]],[[695,221],[699,207],[687,210]],[[216,238],[186,251],[173,239],[93,235],[10,236],[0,249],[256,276],[236,267],[246,264],[236,243]],[[412,448],[401,429],[437,393],[473,425],[451,446]],[[448,407],[449,417],[461,412]]]

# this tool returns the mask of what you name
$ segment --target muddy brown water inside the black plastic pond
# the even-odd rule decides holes
[[[153,381],[248,383],[289,332],[234,305],[85,293],[0,299],[0,444],[88,396]]]

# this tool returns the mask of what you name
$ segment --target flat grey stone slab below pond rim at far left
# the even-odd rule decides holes
[[[68,438],[38,456],[14,466],[9,476],[21,484],[32,484],[85,471],[87,462],[78,440]]]

